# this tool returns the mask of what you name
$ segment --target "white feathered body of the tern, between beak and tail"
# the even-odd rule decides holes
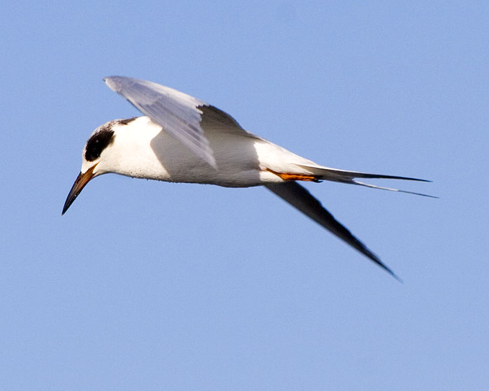
[[[97,165],[99,175],[115,172],[128,177],[166,182],[249,187],[284,182],[273,172],[312,176],[313,173],[301,164],[321,168],[251,133],[204,130],[205,138],[214,152],[217,165],[217,170],[214,170],[149,117],[116,119],[101,128],[110,128],[116,136],[106,149],[108,158]],[[85,160],[82,172],[90,165],[92,162]]]

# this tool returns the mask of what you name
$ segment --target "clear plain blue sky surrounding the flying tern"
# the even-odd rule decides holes
[[[409,3],[409,4],[407,4]],[[487,2],[2,6],[2,390],[487,390]],[[85,141],[166,84],[318,163],[398,283],[266,189],[105,175]]]

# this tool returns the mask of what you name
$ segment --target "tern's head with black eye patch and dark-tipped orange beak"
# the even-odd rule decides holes
[[[117,160],[117,148],[114,147],[117,138],[117,128],[128,124],[131,119],[115,119],[98,126],[90,135],[82,154],[82,169],[71,187],[70,193],[64,202],[64,214],[73,201],[81,193],[85,185],[94,177],[112,172],[111,168]]]

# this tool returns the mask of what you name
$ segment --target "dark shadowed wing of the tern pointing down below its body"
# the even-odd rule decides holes
[[[310,219],[316,221],[321,226],[335,234],[340,239],[343,239],[350,246],[354,247],[364,256],[370,258],[382,267],[386,272],[391,274],[395,279],[400,281],[400,278],[394,274],[372,251],[367,249],[367,246],[354,237],[351,232],[345,228],[339,221],[335,219],[333,214],[330,214],[324,209],[321,202],[316,200],[314,196],[309,193],[304,187],[300,186],[297,182],[284,182],[281,184],[266,184],[267,189],[277,194],[280,198],[286,200],[293,207],[297,208],[308,216]]]

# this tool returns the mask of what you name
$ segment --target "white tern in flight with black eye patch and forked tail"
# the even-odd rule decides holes
[[[83,149],[82,169],[62,214],[90,179],[108,172],[166,182],[265,186],[399,279],[299,181],[327,180],[391,191],[402,190],[366,184],[357,178],[430,181],[325,167],[245,131],[226,112],[170,87],[123,76],[104,81],[145,116],[115,119],[95,129]]]

